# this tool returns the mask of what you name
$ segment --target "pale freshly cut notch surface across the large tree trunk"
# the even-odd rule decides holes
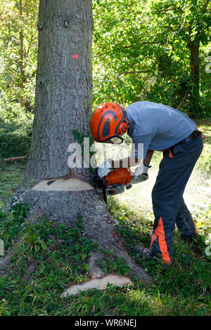
[[[94,189],[90,183],[75,178],[54,178],[51,180],[42,180],[32,187],[32,190],[40,191],[81,191]]]

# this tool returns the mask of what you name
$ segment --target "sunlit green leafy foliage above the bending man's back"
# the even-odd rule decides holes
[[[94,105],[105,100],[125,106],[151,100],[180,107],[191,117],[210,116],[211,83],[205,73],[210,48],[208,1],[94,0],[93,4]],[[190,41],[200,43],[200,105],[195,113]]]

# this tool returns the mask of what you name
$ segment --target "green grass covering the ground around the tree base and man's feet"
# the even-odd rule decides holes
[[[205,128],[207,129],[207,128]],[[210,129],[210,128],[209,128]],[[209,139],[205,149],[209,150]],[[203,151],[204,154],[204,151]],[[198,164],[207,173],[207,157]],[[0,200],[4,206],[18,187],[25,162],[0,162]],[[132,246],[148,247],[151,241],[153,215],[129,209],[111,198],[108,207],[119,222],[117,231],[132,255]],[[163,270],[155,261],[134,258],[153,277],[144,287],[117,288],[108,285],[77,296],[60,298],[68,286],[88,278],[88,258],[96,245],[83,235],[83,219],[78,214],[74,228],[47,219],[29,224],[27,206],[18,205],[0,214],[0,239],[11,257],[7,272],[0,268],[0,315],[210,315],[210,257],[205,255],[205,240],[210,233],[211,209],[195,215],[199,236],[191,243],[182,241],[174,232],[174,264]],[[113,251],[104,251],[101,268],[106,272],[127,275],[124,260],[115,260]],[[0,257],[1,261],[1,257]]]

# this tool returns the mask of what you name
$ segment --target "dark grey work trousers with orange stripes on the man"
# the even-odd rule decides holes
[[[165,263],[172,262],[175,224],[184,239],[198,235],[194,220],[182,196],[202,150],[203,139],[198,136],[163,152],[152,191],[155,222],[151,252],[153,255],[161,254]]]

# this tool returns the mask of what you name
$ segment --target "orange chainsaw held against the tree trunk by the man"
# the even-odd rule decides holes
[[[124,190],[131,189],[132,184],[147,180],[148,174],[143,173],[140,176],[133,176],[130,169],[115,169],[110,171],[108,176],[100,178],[97,168],[93,178],[98,194],[107,202],[107,197],[121,194]]]

